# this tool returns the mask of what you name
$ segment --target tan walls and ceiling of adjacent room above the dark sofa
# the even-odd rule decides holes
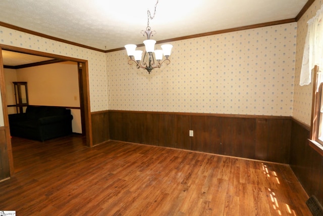
[[[59,62],[9,51],[3,51],[2,55],[9,116],[26,113],[28,106],[65,107],[73,115],[72,132],[82,134],[76,62]],[[19,89],[22,91],[18,91]],[[19,93],[22,94],[21,104]]]

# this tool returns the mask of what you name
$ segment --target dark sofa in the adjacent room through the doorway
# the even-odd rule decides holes
[[[14,137],[49,140],[72,134],[71,110],[63,107],[28,106],[25,113],[10,114],[10,133]]]

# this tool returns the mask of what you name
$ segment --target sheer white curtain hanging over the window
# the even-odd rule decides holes
[[[307,85],[311,82],[311,70],[315,65],[321,72],[323,69],[323,5],[316,15],[307,21],[300,85]],[[317,81],[320,83],[323,80]]]

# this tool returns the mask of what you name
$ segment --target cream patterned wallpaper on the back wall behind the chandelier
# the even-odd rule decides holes
[[[174,41],[171,64],[150,75],[128,65],[126,51],[107,53],[109,109],[291,116],[296,31],[290,23]]]

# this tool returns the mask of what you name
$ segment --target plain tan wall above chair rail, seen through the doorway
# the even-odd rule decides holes
[[[62,62],[17,69],[26,81],[30,105],[80,107],[76,62]]]

